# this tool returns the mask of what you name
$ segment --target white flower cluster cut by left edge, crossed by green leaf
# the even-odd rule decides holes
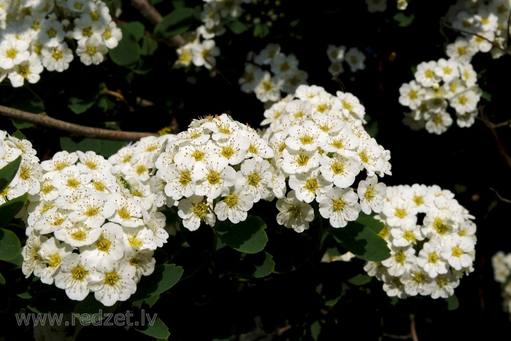
[[[25,193],[37,194],[40,190],[42,168],[36,150],[28,140],[19,140],[0,130],[0,168],[21,155],[21,163],[11,183],[0,193],[0,204]]]

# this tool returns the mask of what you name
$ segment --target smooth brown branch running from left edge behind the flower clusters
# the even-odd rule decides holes
[[[86,127],[75,123],[57,120],[47,115],[41,115],[40,113],[31,113],[9,108],[3,105],[0,105],[0,115],[32,124],[40,124],[46,127],[64,130],[87,138],[117,141],[137,141],[147,136],[156,135],[150,132],[119,131],[96,127]]]

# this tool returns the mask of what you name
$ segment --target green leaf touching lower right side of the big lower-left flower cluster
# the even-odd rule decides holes
[[[175,264],[156,265],[149,276],[144,276],[137,284],[136,292],[130,301],[145,300],[172,288],[183,275],[183,268]]]

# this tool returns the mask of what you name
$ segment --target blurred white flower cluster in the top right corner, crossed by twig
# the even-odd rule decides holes
[[[505,48],[510,11],[509,0],[458,0],[449,9],[446,19],[461,31],[461,36],[447,46],[447,55],[467,62],[477,52],[491,52],[493,58],[502,56],[503,51],[492,42]]]

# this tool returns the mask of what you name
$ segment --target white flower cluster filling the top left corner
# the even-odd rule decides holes
[[[0,81],[37,83],[43,69],[63,72],[76,40],[85,65],[99,64],[122,38],[100,0],[4,0],[0,4]],[[71,43],[73,46],[75,42]]]

